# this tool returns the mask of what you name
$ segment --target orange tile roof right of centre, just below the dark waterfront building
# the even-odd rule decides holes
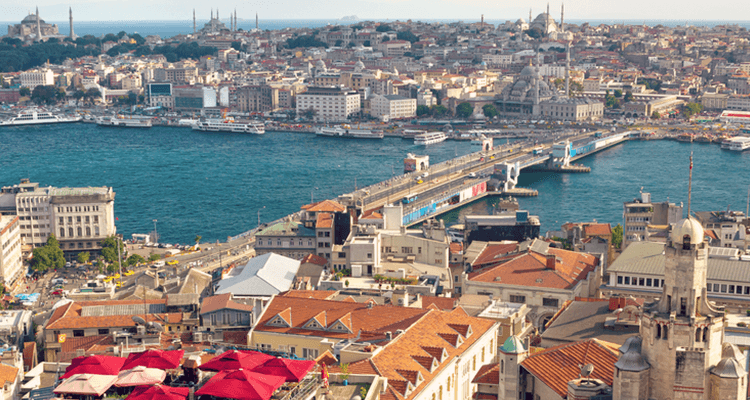
[[[599,264],[591,254],[549,248],[548,254],[555,256],[555,268],[547,268],[547,257],[528,251],[520,255],[503,258],[507,260],[493,267],[469,274],[470,281],[492,282],[501,285],[519,285],[569,289],[586,279],[589,272]]]

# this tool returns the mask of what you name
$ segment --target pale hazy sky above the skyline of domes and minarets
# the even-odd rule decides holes
[[[211,7],[226,18],[237,8],[239,18],[252,19],[258,12],[261,19],[334,19],[357,15],[360,19],[485,19],[516,20],[528,18],[546,9],[546,1],[487,0],[21,0],[0,1],[0,20],[20,21],[39,6],[42,19],[68,19],[73,7],[77,21],[113,20],[188,20],[196,9],[199,19],[208,19]],[[559,20],[560,2],[550,3],[550,14]],[[747,0],[569,0],[565,2],[566,19],[604,20],[750,20]],[[0,33],[1,35],[2,33]]]

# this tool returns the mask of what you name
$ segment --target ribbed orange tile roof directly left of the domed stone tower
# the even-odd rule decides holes
[[[591,378],[612,386],[619,347],[598,339],[563,344],[529,356],[521,366],[564,397],[568,393],[568,382],[581,374],[579,365],[594,364]]]

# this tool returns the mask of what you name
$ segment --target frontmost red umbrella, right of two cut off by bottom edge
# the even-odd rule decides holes
[[[269,400],[284,380],[283,376],[263,375],[246,369],[222,371],[195,394],[235,400]]]

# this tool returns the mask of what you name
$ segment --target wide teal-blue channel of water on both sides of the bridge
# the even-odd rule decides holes
[[[30,178],[42,186],[112,186],[118,232],[147,233],[157,219],[165,242],[224,240],[299,210],[388,179],[409,152],[438,163],[471,151],[468,142],[414,146],[410,141],[321,138],[267,132],[263,136],[148,130],[89,124],[0,130],[0,184]],[[520,205],[539,215],[542,232],[567,221],[622,222],[622,203],[641,187],[654,201],[687,205],[688,158],[694,152],[693,210],[745,210],[750,151],[672,141],[628,142],[581,160],[588,174],[522,173],[519,185],[539,196]],[[496,200],[495,200],[496,201]],[[488,212],[482,200],[443,216]],[[265,206],[265,209],[263,207]]]

